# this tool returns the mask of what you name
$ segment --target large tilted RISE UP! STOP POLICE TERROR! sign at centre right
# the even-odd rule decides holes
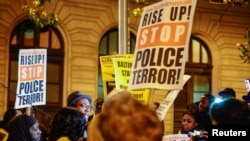
[[[128,90],[182,89],[196,0],[163,0],[143,8]]]

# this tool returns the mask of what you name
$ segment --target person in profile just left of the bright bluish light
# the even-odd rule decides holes
[[[199,124],[199,128],[201,130],[208,131],[209,126],[212,125],[212,120],[209,116],[209,107],[214,101],[215,101],[215,96],[211,94],[203,94],[200,97],[198,110],[199,110],[200,118],[201,118],[201,121]]]

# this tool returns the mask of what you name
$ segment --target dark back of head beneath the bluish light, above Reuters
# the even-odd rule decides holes
[[[213,125],[248,125],[249,108],[246,102],[235,98],[214,102],[209,113]]]

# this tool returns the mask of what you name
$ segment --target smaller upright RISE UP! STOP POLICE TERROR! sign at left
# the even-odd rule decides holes
[[[15,108],[46,104],[46,49],[20,49]]]

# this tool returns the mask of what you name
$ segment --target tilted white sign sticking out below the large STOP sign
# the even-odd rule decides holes
[[[183,78],[183,86],[186,84],[186,82],[190,79],[190,75],[184,75]],[[178,96],[179,92],[181,90],[171,90],[169,91],[168,95],[163,99],[160,106],[156,109],[157,116],[162,121],[165,118],[165,115],[167,114],[169,108],[174,103],[175,98]]]

